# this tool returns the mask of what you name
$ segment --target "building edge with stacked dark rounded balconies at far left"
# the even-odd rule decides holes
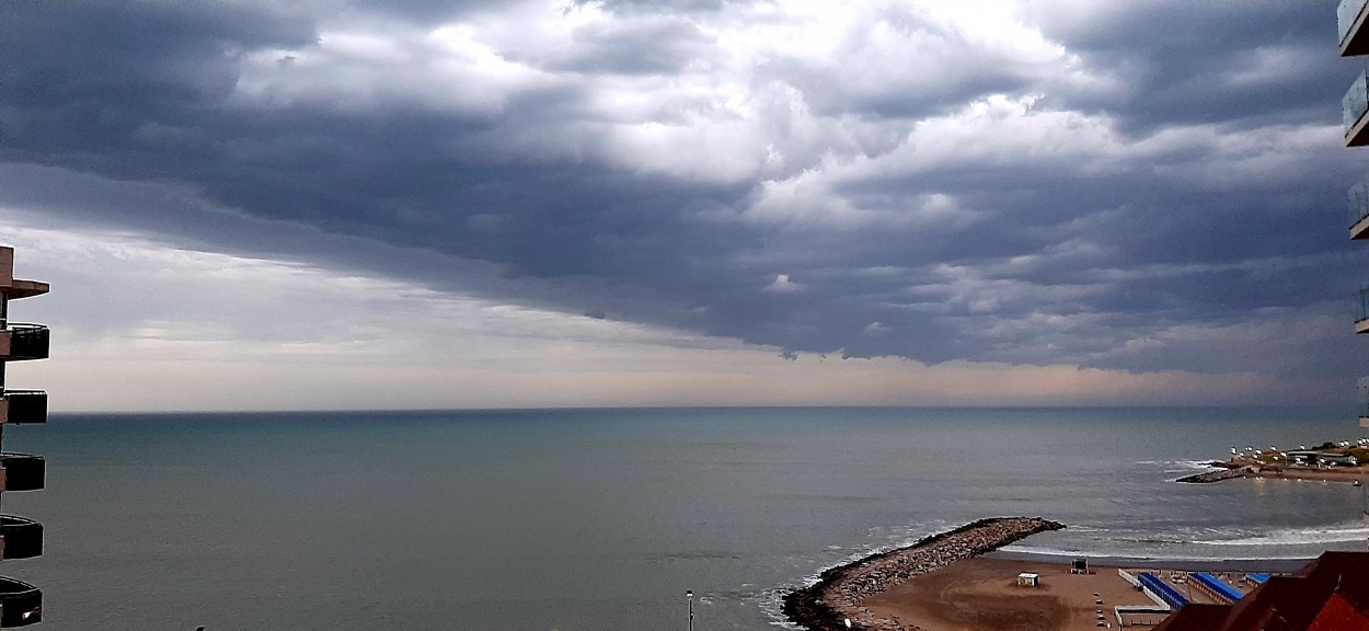
[[[10,361],[48,359],[48,327],[10,322],[10,301],[42,296],[48,283],[14,278],[14,249],[0,246],[0,493],[42,489],[47,463],[40,456],[3,450],[8,426],[48,422],[48,393],[5,387]],[[0,560],[42,554],[42,524],[0,515]],[[25,627],[42,619],[42,591],[0,576],[0,628]]]

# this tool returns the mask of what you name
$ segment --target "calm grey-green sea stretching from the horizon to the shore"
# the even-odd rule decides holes
[[[1233,445],[1358,434],[1259,409],[53,415],[5,431],[45,554],[0,571],[52,630],[779,624],[826,567],[990,516],[1014,546],[1153,557],[1362,549],[1361,489],[1170,480]]]

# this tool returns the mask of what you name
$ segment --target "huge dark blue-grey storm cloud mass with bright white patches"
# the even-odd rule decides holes
[[[1351,370],[1331,7],[270,7],[0,5],[0,204],[790,352]]]

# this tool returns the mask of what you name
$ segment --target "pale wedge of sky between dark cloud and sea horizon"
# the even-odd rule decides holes
[[[734,339],[130,233],[3,227],[0,242],[16,248],[19,276],[52,283],[12,305],[14,318],[53,327],[52,359],[10,376],[45,387],[53,411],[1207,402],[1295,386],[1251,374],[784,361]],[[865,333],[893,331],[876,322]]]

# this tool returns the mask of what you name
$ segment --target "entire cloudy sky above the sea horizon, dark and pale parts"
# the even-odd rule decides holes
[[[1333,1],[7,1],[55,409],[1348,405]],[[18,383],[29,385],[29,383]]]

